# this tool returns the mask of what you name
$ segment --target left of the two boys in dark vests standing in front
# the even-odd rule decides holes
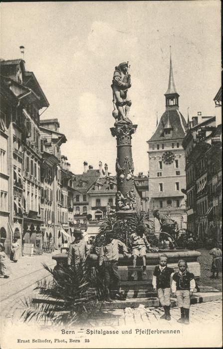
[[[160,264],[155,267],[153,273],[153,289],[158,294],[159,301],[164,308],[161,319],[171,320],[170,316],[170,282],[174,275],[174,269],[167,266],[167,255],[160,255]]]

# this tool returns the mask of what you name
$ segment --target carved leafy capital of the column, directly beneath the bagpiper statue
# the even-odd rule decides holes
[[[117,137],[117,145],[131,145],[132,134],[136,132],[137,125],[116,125],[112,127],[111,134]]]

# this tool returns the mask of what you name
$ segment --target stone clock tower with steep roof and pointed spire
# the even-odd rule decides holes
[[[179,111],[172,59],[170,75],[165,93],[166,111],[157,123],[149,145],[149,207],[150,218],[154,219],[156,231],[160,230],[159,221],[153,217],[154,210],[160,210],[176,220],[179,228],[186,228],[186,188],[185,151],[182,141],[186,134],[187,123]]]

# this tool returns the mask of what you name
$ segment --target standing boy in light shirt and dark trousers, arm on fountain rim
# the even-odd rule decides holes
[[[119,259],[119,246],[123,248],[124,256],[128,255],[128,249],[126,245],[117,239],[113,238],[113,231],[108,230],[105,234],[105,243],[101,246],[99,256],[99,266],[104,263],[105,268],[105,286],[106,286],[106,301],[112,302],[110,297],[111,281],[115,284],[118,290],[118,295],[121,293],[120,276],[118,274],[118,259]]]

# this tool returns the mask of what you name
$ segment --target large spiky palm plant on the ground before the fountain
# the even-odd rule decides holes
[[[35,290],[39,291],[40,299],[23,302],[23,321],[58,326],[90,323],[90,318],[101,308],[99,301],[104,297],[104,286],[97,270],[92,272],[86,265],[78,268],[60,266],[59,270],[43,265],[53,280],[44,279],[37,284]]]

